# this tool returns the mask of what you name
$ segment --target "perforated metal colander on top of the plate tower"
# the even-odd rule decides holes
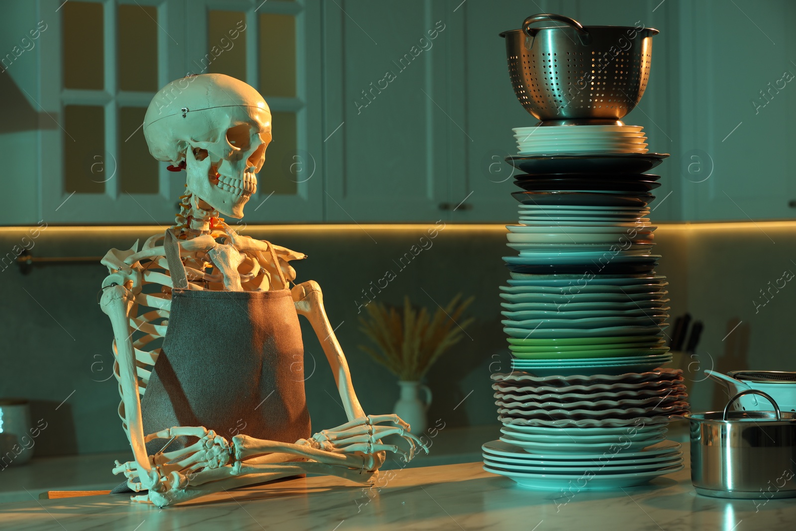
[[[539,21],[565,25],[531,27]],[[632,111],[650,77],[657,33],[641,26],[584,27],[563,15],[537,14],[522,29],[500,35],[517,99],[543,125],[560,125],[617,123]]]

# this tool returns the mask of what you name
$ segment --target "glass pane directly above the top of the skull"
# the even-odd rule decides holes
[[[246,14],[210,11],[207,21],[208,53],[193,61],[199,73],[226,74],[246,80]]]

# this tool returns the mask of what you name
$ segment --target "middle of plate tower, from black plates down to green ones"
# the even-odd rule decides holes
[[[537,129],[533,135],[581,134],[579,127]],[[618,138],[615,126],[605,131]],[[506,239],[517,255],[503,257],[512,278],[500,294],[513,370],[615,375],[672,360],[662,341],[667,283],[654,271],[661,256],[648,217],[659,176],[633,173],[663,156],[632,155],[611,155],[610,175],[587,172],[583,159],[600,154],[563,157],[552,166],[548,157],[544,168],[533,157],[509,161],[529,172],[517,178],[524,190],[513,194],[520,222],[506,225]]]

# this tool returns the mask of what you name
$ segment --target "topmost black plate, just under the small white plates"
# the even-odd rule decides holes
[[[505,162],[526,174],[643,174],[668,156],[668,153],[509,155]]]

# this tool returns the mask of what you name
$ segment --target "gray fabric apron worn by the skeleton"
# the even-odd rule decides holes
[[[189,290],[177,240],[166,231],[174,288],[166,338],[141,400],[144,435],[204,426],[295,443],[311,435],[301,329],[290,290]],[[280,271],[281,274],[281,271]],[[181,436],[166,451],[187,447]],[[168,439],[146,443],[154,455]],[[113,492],[128,491],[116,487]]]

